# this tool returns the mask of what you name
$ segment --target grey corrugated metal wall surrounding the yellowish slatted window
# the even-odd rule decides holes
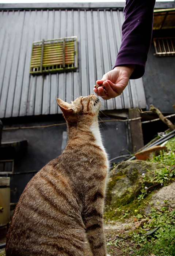
[[[121,44],[122,10],[67,6],[1,8],[0,118],[58,113],[57,97],[69,102],[93,93],[95,81],[112,69]],[[34,41],[70,36],[78,41],[76,72],[29,74]],[[121,96],[102,102],[102,109],[145,108],[142,79],[131,80]]]

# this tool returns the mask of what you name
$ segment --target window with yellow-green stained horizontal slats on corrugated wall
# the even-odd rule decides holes
[[[33,43],[31,74],[58,72],[77,68],[77,37],[42,40]]]

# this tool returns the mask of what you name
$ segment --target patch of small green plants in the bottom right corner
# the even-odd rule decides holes
[[[139,232],[132,234],[136,255],[175,255],[175,210],[152,207]],[[149,231],[148,231],[149,230]]]

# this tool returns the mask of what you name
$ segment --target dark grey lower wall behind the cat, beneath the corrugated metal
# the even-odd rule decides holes
[[[46,117],[45,117],[46,118]],[[128,154],[131,151],[130,135],[128,124],[126,122],[111,121],[108,117],[102,117],[102,120],[108,122],[100,123],[104,146],[109,153],[109,159],[119,155]],[[2,120],[4,128],[7,127],[28,127],[36,125],[49,125],[54,123],[64,123],[65,121],[60,115],[49,117],[49,120],[44,121],[42,118],[37,121],[37,118],[30,118],[30,121],[20,119],[18,122],[13,120]],[[8,121],[8,123],[7,123]],[[34,122],[35,121],[35,122]],[[9,174],[11,177],[11,202],[17,202],[27,182],[40,170],[47,162],[56,158],[61,154],[61,148],[65,144],[63,137],[65,136],[66,125],[53,126],[48,128],[30,128],[3,131],[2,142],[9,140],[23,140],[28,142],[27,152],[14,160],[14,173]],[[63,136],[64,135],[64,136]],[[120,158],[119,160],[122,160]],[[115,161],[114,161],[115,162]],[[113,162],[112,162],[113,163]],[[29,173],[28,173],[29,172]],[[20,173],[20,174],[19,174]]]

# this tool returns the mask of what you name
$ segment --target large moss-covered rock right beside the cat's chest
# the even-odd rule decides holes
[[[107,207],[115,209],[132,202],[143,186],[150,187],[151,182],[143,182],[145,174],[153,176],[160,165],[142,160],[119,163],[109,173],[107,190]]]

